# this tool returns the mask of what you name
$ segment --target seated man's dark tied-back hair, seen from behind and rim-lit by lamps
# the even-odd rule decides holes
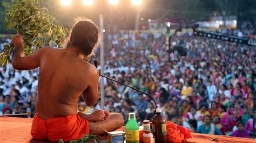
[[[99,28],[90,19],[77,18],[76,20],[64,47],[78,47],[84,54],[84,60],[88,62],[95,55],[95,48],[98,46]]]

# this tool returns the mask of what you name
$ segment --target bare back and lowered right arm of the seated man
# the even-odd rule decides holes
[[[36,103],[39,117],[49,119],[76,115],[78,100],[84,91],[90,96],[86,99],[87,105],[97,101],[98,71],[80,58],[76,49],[46,47],[41,50]]]

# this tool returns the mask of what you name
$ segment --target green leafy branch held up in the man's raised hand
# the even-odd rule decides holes
[[[62,47],[62,38],[68,30],[49,15],[46,8],[40,8],[38,0],[16,0],[12,6],[8,6],[5,12],[6,29],[14,28],[17,33],[22,34],[24,39],[24,55],[30,55],[39,47],[45,45],[45,41],[51,46],[53,42],[57,47]],[[4,45],[0,54],[0,65],[6,65],[10,60],[10,54],[14,47]]]

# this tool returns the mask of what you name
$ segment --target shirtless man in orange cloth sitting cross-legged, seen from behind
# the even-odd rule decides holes
[[[29,56],[22,35],[12,39],[15,52],[12,66],[18,70],[39,68],[36,115],[31,135],[39,140],[79,139],[83,134],[100,135],[124,124],[119,113],[97,110],[78,112],[78,100],[92,106],[98,99],[98,70],[88,63],[98,42],[98,27],[90,20],[80,20],[71,30],[66,48],[44,47]]]

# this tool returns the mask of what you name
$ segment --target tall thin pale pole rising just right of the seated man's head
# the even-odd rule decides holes
[[[102,39],[100,40],[100,74],[104,74],[104,35],[103,35],[103,14],[99,15],[99,30]],[[100,80],[100,108],[104,110],[104,78]]]

